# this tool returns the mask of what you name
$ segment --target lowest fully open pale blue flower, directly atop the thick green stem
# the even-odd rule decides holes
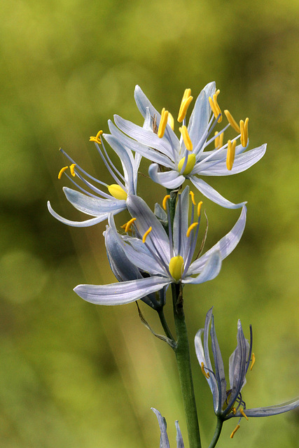
[[[192,200],[193,193],[191,194]],[[166,206],[167,197],[163,201]],[[171,283],[199,284],[214,279],[221,269],[223,258],[237,246],[246,223],[246,207],[235,226],[199,258],[195,258],[197,235],[200,224],[200,204],[197,206],[197,220],[194,219],[195,203],[192,203],[191,225],[188,225],[189,188],[179,195],[174,214],[174,232],[169,222],[169,233],[165,231],[158,218],[148,205],[138,196],[128,196],[127,209],[132,219],[126,229],[132,228],[134,236],[120,236],[116,230],[111,232],[114,244],[119,244],[126,258],[142,272],[145,278],[113,283],[110,285],[78,285],[74,291],[88,302],[116,305],[134,302],[154,293]],[[169,207],[167,207],[169,215]],[[113,227],[113,218],[110,221]],[[121,264],[122,255],[115,255],[114,262]],[[125,260],[124,260],[125,262]],[[195,275],[195,276],[193,276]]]

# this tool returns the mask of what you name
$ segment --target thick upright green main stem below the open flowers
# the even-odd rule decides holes
[[[183,395],[183,405],[186,414],[188,438],[190,448],[201,448],[200,427],[197,419],[197,409],[193,388],[193,379],[190,364],[190,351],[188,334],[183,313],[183,300],[180,285],[172,283],[172,300],[174,307],[174,323],[176,326],[177,344],[174,349],[176,363],[179,370],[179,379]]]

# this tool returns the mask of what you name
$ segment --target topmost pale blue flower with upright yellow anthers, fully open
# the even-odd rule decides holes
[[[148,169],[153,181],[166,188],[175,189],[181,186],[185,179],[189,179],[209,200],[222,207],[236,209],[242,207],[244,202],[233,204],[198,176],[229,176],[243,172],[263,157],[266,144],[244,153],[249,146],[249,120],[241,120],[238,125],[229,111],[225,111],[228,125],[210,137],[215,125],[222,120],[217,102],[218,93],[214,82],[204,87],[197,97],[186,127],[186,112],[193,99],[190,89],[186,89],[178,118],[179,122],[183,123],[180,139],[174,133],[174,121],[173,118],[169,119],[168,111],[163,109],[160,115],[139,85],[135,87],[134,97],[139,111],[144,116],[144,126],[140,127],[120,116],[114,116],[115,123],[122,132],[111,123],[109,127],[111,134],[116,134],[123,144],[129,144],[131,141],[133,151],[153,162]],[[211,111],[213,115],[210,118]],[[228,127],[232,127],[238,135],[223,145],[223,132]],[[239,137],[241,144],[236,145]],[[204,151],[213,141],[215,148]]]

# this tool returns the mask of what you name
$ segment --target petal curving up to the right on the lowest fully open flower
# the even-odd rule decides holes
[[[246,211],[246,207],[243,206],[241,215],[239,216],[239,219],[237,223],[235,223],[232,230],[230,230],[230,232],[228,232],[225,237],[221,238],[218,243],[211,247],[209,251],[204,253],[204,255],[202,255],[200,258],[198,258],[198,260],[195,260],[192,265],[190,265],[187,272],[188,275],[201,272],[202,267],[207,262],[211,253],[213,253],[214,251],[220,251],[222,260],[230,255],[243,235],[246,224]]]

